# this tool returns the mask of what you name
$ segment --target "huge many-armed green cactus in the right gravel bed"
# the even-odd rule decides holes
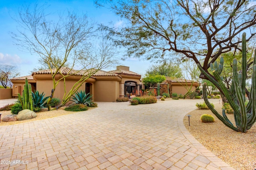
[[[206,105],[210,108],[213,114],[221,120],[226,126],[232,130],[238,132],[247,132],[252,125],[256,122],[256,51],[254,56],[254,62],[252,67],[252,86],[250,92],[250,98],[247,106],[245,106],[245,85],[246,85],[246,34],[242,34],[242,72],[238,73],[237,60],[233,60],[233,79],[230,90],[226,88],[220,76],[223,68],[223,58],[220,58],[220,63],[214,62],[210,64],[212,74],[215,77],[212,78],[210,74],[205,72],[203,68],[198,64],[200,71],[212,82],[214,85],[222,91],[222,94],[228,100],[228,103],[234,110],[234,120],[236,125],[228,119],[225,113],[225,109],[222,110],[222,116],[214,110],[210,102],[207,99],[206,83],[203,84],[203,96]]]

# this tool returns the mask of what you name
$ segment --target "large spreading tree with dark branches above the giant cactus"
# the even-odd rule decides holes
[[[188,57],[208,72],[220,55],[240,50],[240,35],[246,41],[255,33],[253,0],[97,0],[123,19],[121,28],[103,26],[127,56],[163,60],[170,52]],[[159,51],[162,51],[161,55]],[[203,59],[201,63],[199,59]],[[213,76],[212,76],[213,77]],[[204,74],[200,78],[208,79]]]

